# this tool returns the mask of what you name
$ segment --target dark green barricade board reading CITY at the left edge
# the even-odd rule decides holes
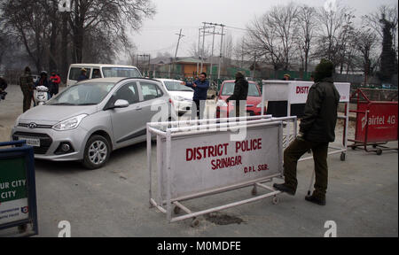
[[[0,143],[0,147],[6,148],[0,149],[0,230],[18,227],[19,234],[7,232],[7,236],[37,235],[33,148],[25,141]]]

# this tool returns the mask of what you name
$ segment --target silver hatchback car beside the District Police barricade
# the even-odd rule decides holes
[[[34,147],[35,158],[79,160],[97,169],[106,164],[111,151],[144,142],[146,123],[153,117],[170,120],[171,113],[165,116],[165,111],[171,112],[171,104],[160,81],[81,81],[20,115],[12,140],[26,140]]]

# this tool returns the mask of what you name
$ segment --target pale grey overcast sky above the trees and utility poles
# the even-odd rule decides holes
[[[308,4],[323,6],[326,0],[153,0],[157,13],[153,19],[146,19],[144,26],[132,35],[132,41],[137,46],[137,53],[151,54],[169,52],[175,55],[176,43],[180,28],[184,38],[180,44],[178,57],[189,56],[193,42],[198,42],[199,27],[202,22],[222,23],[228,27],[242,27],[270,10],[271,6],[288,4]],[[340,0],[356,10],[356,17],[374,12],[379,5],[395,5],[396,0]],[[244,35],[245,31],[227,28],[234,40]],[[208,36],[210,37],[210,36]],[[210,38],[209,38],[210,40]],[[217,38],[220,44],[220,38]],[[215,50],[217,54],[218,50]]]

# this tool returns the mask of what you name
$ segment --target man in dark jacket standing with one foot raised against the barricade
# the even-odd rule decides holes
[[[340,94],[332,81],[333,71],[332,63],[325,59],[322,59],[316,67],[316,83],[309,89],[300,133],[284,152],[285,183],[274,184],[275,189],[295,195],[298,186],[296,179],[298,160],[311,149],[315,161],[316,184],[313,194],[305,199],[317,205],[325,205],[328,143],[335,141],[337,108],[340,102]]]

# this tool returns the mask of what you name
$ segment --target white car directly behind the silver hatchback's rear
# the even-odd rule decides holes
[[[160,81],[168,91],[172,104],[175,107],[177,114],[184,114],[192,111],[192,97],[194,97],[194,90],[182,85],[182,81],[170,79],[157,79]]]

